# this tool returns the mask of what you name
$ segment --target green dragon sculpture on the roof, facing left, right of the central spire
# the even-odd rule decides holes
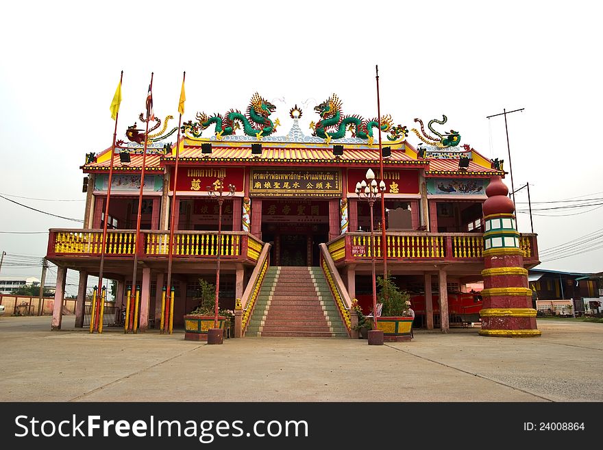
[[[323,138],[326,143],[329,143],[331,139],[344,138],[346,132],[351,132],[353,138],[368,139],[369,144],[372,144],[373,128],[379,127],[377,118],[367,121],[358,115],[342,116],[341,100],[335,94],[316,106],[314,110],[320,114],[321,120],[310,123],[310,128],[314,129],[312,136]],[[389,114],[381,118],[382,131],[387,132],[392,126],[393,122]]]

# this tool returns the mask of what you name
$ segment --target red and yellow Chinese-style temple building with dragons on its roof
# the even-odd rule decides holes
[[[76,326],[84,324],[88,275],[99,275],[105,221],[104,277],[117,282],[116,304],[127,303],[136,255],[138,329],[160,326],[175,208],[175,327],[183,327],[184,316],[197,306],[199,278],[215,282],[219,253],[220,308],[236,310],[235,336],[353,336],[352,301],[370,312],[371,263],[375,258],[383,275],[385,248],[387,271],[411,293],[415,327],[446,332],[479,322],[481,315],[480,334],[539,334],[527,280],[527,269],[539,264],[537,239],[517,232],[513,202],[502,200],[508,199],[500,182],[502,162],[460,144],[454,130],[438,132],[445,116],[430,121],[428,132],[415,119],[420,127],[409,131],[389,116],[343,116],[335,95],[314,110],[295,105],[280,111],[287,113],[293,126],[279,134],[274,105],[254,95],[247,114],[197,113],[195,121],[184,122],[178,149],[177,127],[168,132],[165,121],[160,132],[149,131],[146,144],[144,130],[134,125],[113,152],[86,155],[84,226],[51,229],[47,251],[58,266],[57,299],[66,269],[79,271]],[[160,125],[157,119],[153,129]],[[408,142],[415,135],[420,145]],[[373,206],[374,247],[369,202],[356,194],[369,168],[385,184],[385,223],[380,199]],[[221,210],[219,248],[218,203],[208,188],[226,185],[234,188]],[[480,295],[461,292],[465,284],[482,281]],[[304,303],[310,301],[315,305]],[[314,310],[312,320],[300,320]],[[54,329],[60,320],[56,312]]]

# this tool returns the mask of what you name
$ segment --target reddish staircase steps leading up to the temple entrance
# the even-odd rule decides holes
[[[270,267],[245,336],[349,338],[320,267]]]

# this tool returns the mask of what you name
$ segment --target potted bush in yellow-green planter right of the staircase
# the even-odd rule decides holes
[[[412,338],[413,316],[410,315],[410,295],[400,290],[391,277],[378,277],[378,299],[382,303],[377,328],[386,341],[404,341]]]

